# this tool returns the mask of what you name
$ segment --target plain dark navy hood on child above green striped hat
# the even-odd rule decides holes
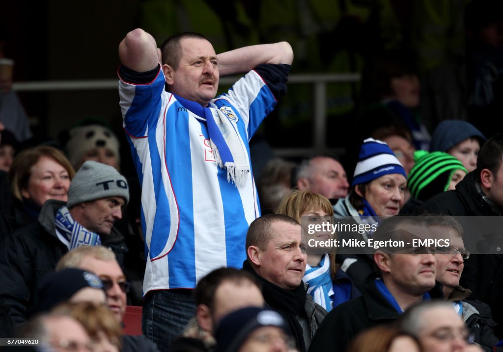
[[[486,140],[482,132],[466,121],[444,120],[433,131],[430,152],[447,152],[468,138],[477,139],[481,147]]]

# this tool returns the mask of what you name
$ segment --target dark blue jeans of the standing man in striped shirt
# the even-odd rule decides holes
[[[157,344],[159,351],[167,352],[195,311],[192,290],[150,291],[143,300],[143,334]]]

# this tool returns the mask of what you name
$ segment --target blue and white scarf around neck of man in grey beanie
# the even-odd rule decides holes
[[[67,243],[63,242],[68,250],[80,246],[101,246],[101,238],[98,233],[92,232],[71,217],[66,206],[62,206],[54,217],[56,229],[60,232]]]

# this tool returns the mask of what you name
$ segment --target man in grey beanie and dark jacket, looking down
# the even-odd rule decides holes
[[[113,167],[84,163],[70,183],[68,202],[48,200],[38,222],[24,226],[0,243],[0,305],[17,324],[26,321],[43,276],[68,250],[106,246],[122,264],[127,248],[113,224],[129,201],[129,188]]]

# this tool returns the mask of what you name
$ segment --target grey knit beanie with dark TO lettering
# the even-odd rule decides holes
[[[112,166],[86,161],[70,182],[66,206],[71,208],[76,204],[108,197],[122,197],[124,206],[127,205],[129,186],[126,178]]]

